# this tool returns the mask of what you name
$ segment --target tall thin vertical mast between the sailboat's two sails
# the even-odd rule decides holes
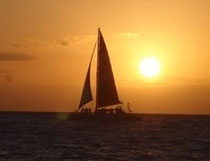
[[[98,82],[99,82],[99,54],[100,52],[100,28],[98,28],[98,48],[97,48],[97,69],[96,69],[96,108],[98,109]]]

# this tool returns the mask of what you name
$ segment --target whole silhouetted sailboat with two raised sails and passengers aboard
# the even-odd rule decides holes
[[[97,46],[97,67],[96,67],[96,98],[95,111],[92,113],[90,108],[84,106],[93,101],[91,90],[91,65],[93,55]],[[100,28],[98,29],[98,40],[94,46],[89,62],[78,111],[72,114],[72,119],[103,119],[103,120],[124,120],[127,118],[138,118],[123,110],[123,104],[119,99],[114,74],[108,54],[108,50]]]

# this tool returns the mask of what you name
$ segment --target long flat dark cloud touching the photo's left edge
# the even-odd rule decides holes
[[[0,52],[0,61],[29,61],[35,57],[23,53],[4,53]]]

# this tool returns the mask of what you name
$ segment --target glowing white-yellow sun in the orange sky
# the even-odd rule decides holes
[[[144,77],[153,78],[160,73],[160,63],[155,57],[146,57],[140,62],[139,70]]]

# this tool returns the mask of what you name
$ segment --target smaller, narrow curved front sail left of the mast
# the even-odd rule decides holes
[[[87,75],[86,75],[86,78],[85,78],[85,84],[84,84],[84,87],[83,87],[83,90],[82,90],[82,97],[81,97],[78,109],[80,109],[86,103],[93,100],[93,96],[92,96],[92,92],[91,92],[91,85],[90,85],[90,69],[91,69],[91,62],[92,62],[92,59],[93,59],[93,54],[94,54],[95,48],[96,48],[96,44],[94,45],[94,48],[93,48],[93,53],[92,53],[92,56],[91,56],[91,59],[90,59],[90,64],[89,64]]]

